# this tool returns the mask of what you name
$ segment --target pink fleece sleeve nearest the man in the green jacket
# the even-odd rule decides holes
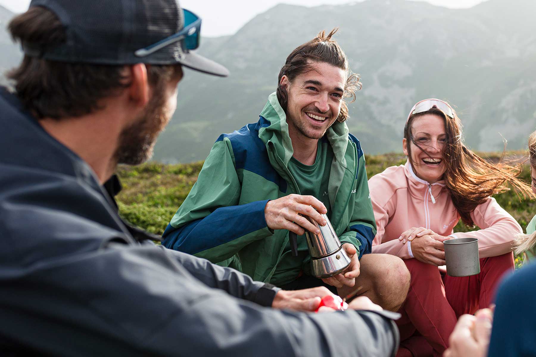
[[[375,176],[369,180],[371,190],[370,198],[378,229],[378,232],[374,237],[372,252],[396,255],[401,259],[410,259],[412,256],[407,250],[407,245],[399,241],[397,239],[398,237],[391,240],[384,239],[385,226],[389,223],[389,219],[394,214],[396,207],[396,202],[394,201],[396,200],[396,196],[394,196],[394,192],[392,194],[386,194],[386,191],[389,190],[389,188],[383,184],[383,178],[380,176]],[[379,197],[384,196],[390,196],[386,203],[383,201],[380,202],[378,199]]]

